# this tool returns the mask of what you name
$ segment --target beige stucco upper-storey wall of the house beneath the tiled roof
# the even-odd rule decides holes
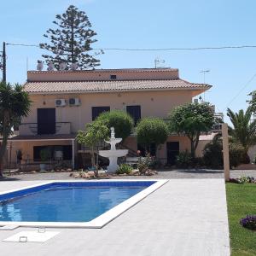
[[[71,131],[84,129],[84,125],[91,122],[91,108],[109,106],[110,109],[125,109],[128,105],[140,105],[142,118],[157,116],[166,118],[170,110],[178,105],[191,102],[192,91],[137,91],[122,93],[93,93],[69,95],[32,95],[32,108],[29,116],[22,119],[22,123],[37,123],[37,108],[55,108],[55,99],[78,97],[79,107],[56,108],[56,122],[71,122]],[[45,104],[44,104],[45,103]]]

